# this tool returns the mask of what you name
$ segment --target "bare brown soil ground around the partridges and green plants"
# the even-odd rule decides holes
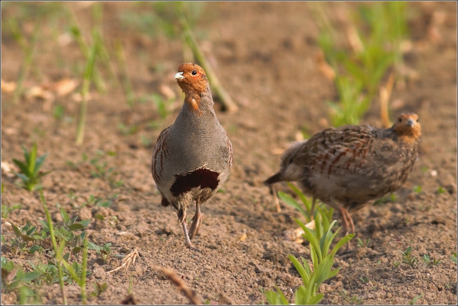
[[[91,27],[90,8],[71,4],[85,33]],[[345,28],[345,10],[330,4],[331,21]],[[350,10],[351,8],[346,8]],[[106,283],[107,290],[91,303],[119,304],[132,295],[138,303],[189,303],[176,287],[154,266],[173,269],[197,297],[212,304],[265,303],[261,290],[275,286],[292,299],[301,284],[288,254],[310,260],[307,247],[284,236],[297,226],[292,217],[300,215],[283,206],[277,213],[272,195],[262,181],[278,171],[280,153],[295,140],[302,126],[311,134],[328,127],[327,100],[336,99],[332,81],[319,70],[316,60],[318,27],[307,3],[208,3],[198,20],[196,31],[225,89],[240,106],[237,113],[215,108],[234,148],[234,167],[223,186],[203,207],[203,224],[195,238],[196,253],[184,247],[176,213],[160,205],[150,173],[152,149],[159,133],[172,124],[181,108],[182,96],[173,80],[181,64],[179,40],[164,35],[151,37],[123,26],[120,16],[128,10],[142,11],[126,3],[103,3],[105,39],[121,39],[126,52],[129,77],[137,97],[161,92],[169,87],[176,99],[172,112],[160,120],[154,103],[137,103],[130,109],[121,86],[112,86],[106,94],[93,88],[89,102],[84,145],[74,144],[80,103],[72,95],[54,99],[21,98],[12,104],[12,95],[2,92],[2,163],[22,159],[21,144],[27,148],[36,141],[39,154],[49,152],[43,166],[52,170],[44,177],[44,195],[54,221],[61,220],[59,207],[72,216],[91,219],[88,239],[98,245],[112,243],[114,254],[127,254],[138,247],[140,256],[128,270],[114,274],[107,271],[120,265],[113,258],[103,264],[90,252],[88,290],[92,283]],[[406,184],[396,193],[395,203],[369,206],[354,214],[357,237],[370,239],[367,247],[358,247],[347,257],[336,257],[340,273],[322,286],[321,303],[406,304],[424,294],[417,303],[456,304],[456,264],[450,256],[456,252],[456,3],[410,3],[410,39],[412,47],[405,55],[406,64],[415,71],[405,86],[392,94],[392,116],[402,112],[419,115],[423,144],[419,159]],[[2,19],[14,10],[2,10]],[[25,23],[28,33],[33,24]],[[78,45],[59,44],[52,39],[53,29],[43,27],[35,51],[33,67],[25,87],[53,84],[64,77],[77,77],[74,66],[84,63]],[[342,31],[342,35],[345,33]],[[15,81],[23,53],[11,34],[2,29],[2,80]],[[110,50],[111,52],[111,50]],[[63,64],[58,64],[58,58]],[[35,68],[34,68],[35,67]],[[36,69],[39,68],[39,69]],[[39,72],[36,72],[39,71]],[[40,72],[41,71],[41,72]],[[80,67],[80,71],[81,67]],[[36,72],[36,73],[35,73]],[[56,120],[55,105],[61,104],[65,117]],[[374,103],[364,123],[381,126],[378,104]],[[158,126],[148,123],[155,120]],[[119,123],[137,126],[138,131],[123,135]],[[150,140],[147,144],[143,140]],[[94,167],[83,162],[75,169],[66,161],[77,163],[85,153],[96,158],[97,150],[116,152],[103,155],[113,167],[109,179],[93,177]],[[113,186],[111,181],[123,181]],[[2,205],[21,205],[2,217],[2,244],[5,256],[30,271],[32,262],[46,261],[43,255],[11,251],[8,241],[14,237],[11,226],[45,219],[37,192],[27,192],[15,184],[16,178],[2,171],[5,192]],[[422,192],[413,187],[421,185]],[[446,189],[438,193],[439,187]],[[286,185],[279,188],[287,192]],[[75,197],[71,197],[74,194]],[[90,195],[108,198],[119,194],[109,208],[83,207]],[[191,216],[193,208],[191,208]],[[95,217],[101,214],[105,220]],[[337,215],[335,216],[338,217]],[[246,239],[241,237],[246,234]],[[401,260],[398,249],[412,247],[418,259],[425,253],[441,261],[425,266],[422,260],[410,267],[395,267]],[[363,281],[363,280],[367,280]],[[292,291],[291,291],[292,290]],[[67,285],[69,303],[81,303],[77,285]],[[62,303],[57,284],[40,289],[43,303]],[[2,293],[2,304],[16,303],[16,293]]]

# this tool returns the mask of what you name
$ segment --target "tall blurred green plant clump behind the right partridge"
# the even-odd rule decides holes
[[[319,9],[320,5],[316,5]],[[321,9],[319,44],[335,72],[338,102],[329,102],[334,126],[358,124],[390,66],[402,64],[400,41],[407,31],[405,4],[361,6],[349,32],[352,51],[337,48],[337,35]],[[389,46],[390,48],[387,48]]]

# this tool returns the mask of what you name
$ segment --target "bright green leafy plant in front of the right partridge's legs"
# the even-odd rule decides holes
[[[344,244],[349,242],[355,234],[350,234],[337,242],[335,247],[330,250],[331,243],[339,232],[338,228],[335,233],[331,229],[336,220],[329,222],[327,212],[317,207],[318,213],[315,216],[315,231],[309,230],[301,221],[294,219],[304,231],[302,237],[309,241],[310,254],[313,263],[313,272],[309,262],[305,258],[300,258],[302,262],[296,259],[293,255],[289,255],[296,270],[302,278],[303,286],[299,286],[295,292],[296,305],[314,305],[317,304],[323,297],[323,293],[319,293],[320,285],[327,279],[334,277],[340,268],[332,269],[334,256]],[[289,304],[284,294],[277,288],[278,292],[268,291],[265,293],[270,304]]]

